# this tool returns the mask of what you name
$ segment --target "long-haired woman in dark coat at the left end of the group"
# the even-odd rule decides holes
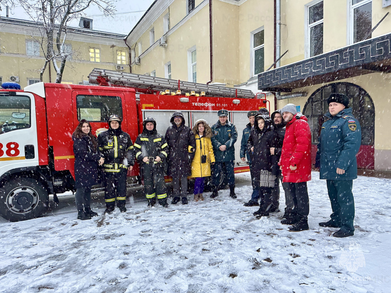
[[[91,133],[91,125],[81,120],[72,135],[75,154],[76,208],[79,220],[88,220],[98,214],[91,210],[91,186],[99,183],[98,165],[104,163],[98,151],[98,141]],[[84,206],[84,209],[83,209]]]

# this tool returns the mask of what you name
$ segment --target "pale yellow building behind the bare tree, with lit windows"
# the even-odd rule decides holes
[[[83,84],[93,68],[129,72],[129,48],[123,35],[69,28],[65,40],[68,58],[63,83]],[[15,81],[22,87],[40,81],[45,62],[41,33],[32,21],[0,19],[0,83]],[[61,62],[58,62],[60,66]],[[56,71],[47,66],[43,82],[54,83]],[[50,77],[49,77],[50,73]]]

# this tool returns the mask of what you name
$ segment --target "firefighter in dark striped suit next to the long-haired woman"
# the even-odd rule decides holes
[[[105,213],[111,213],[115,207],[121,212],[126,212],[126,177],[128,167],[133,169],[134,149],[128,133],[121,129],[122,120],[118,115],[109,117],[109,130],[98,136],[99,150],[105,156]]]

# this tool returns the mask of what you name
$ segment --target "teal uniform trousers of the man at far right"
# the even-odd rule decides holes
[[[326,180],[330,198],[331,221],[348,231],[354,231],[353,180]]]

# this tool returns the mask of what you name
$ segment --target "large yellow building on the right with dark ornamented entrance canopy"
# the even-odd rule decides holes
[[[309,117],[313,152],[327,112],[327,95],[345,93],[363,126],[359,166],[388,170],[391,139],[386,119],[391,111],[391,99],[387,97],[391,91],[391,62],[387,54],[379,57],[381,61],[374,61],[374,52],[377,40],[384,44],[391,34],[391,16],[381,21],[391,12],[390,2],[157,0],[126,38],[131,47],[131,71],[265,92],[271,110],[275,105],[282,108],[293,103]],[[353,49],[358,50],[357,56],[366,53],[368,60],[352,57],[350,61],[354,62],[346,66],[343,62],[332,69],[327,65],[338,50]],[[367,51],[360,54],[360,50]],[[348,53],[339,53],[348,58]],[[317,56],[329,56],[323,75],[316,73],[323,64]],[[316,77],[307,79],[303,75],[298,82],[291,81],[294,74],[287,70],[299,63],[312,66]],[[300,66],[307,66],[303,64]]]

